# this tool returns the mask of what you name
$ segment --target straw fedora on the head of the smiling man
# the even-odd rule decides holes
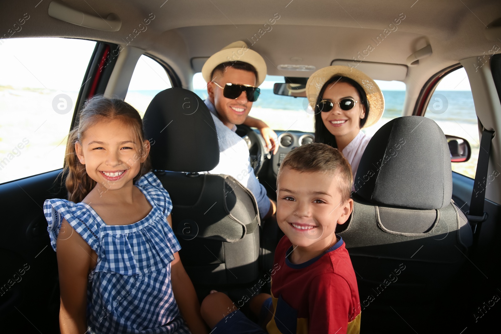
[[[236,61],[248,63],[256,68],[256,71],[258,71],[256,86],[265,81],[267,72],[265,60],[256,51],[250,50],[243,41],[233,42],[210,56],[202,67],[203,79],[205,82],[210,82],[212,80],[210,74],[217,65]]]

